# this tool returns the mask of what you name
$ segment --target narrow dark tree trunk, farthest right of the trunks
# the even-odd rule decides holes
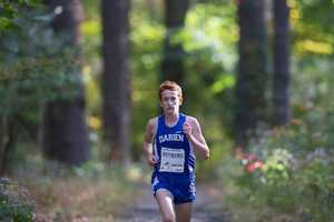
[[[274,124],[285,124],[289,110],[289,9],[286,0],[274,0]]]

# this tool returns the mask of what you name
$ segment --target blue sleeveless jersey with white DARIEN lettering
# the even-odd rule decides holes
[[[165,115],[158,118],[154,138],[154,153],[158,162],[154,173],[159,178],[185,176],[189,179],[195,174],[194,149],[183,132],[185,121],[186,115],[179,113],[177,123],[174,127],[168,127],[165,122]]]

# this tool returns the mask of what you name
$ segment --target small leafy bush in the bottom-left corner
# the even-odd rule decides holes
[[[9,179],[0,179],[0,220],[32,222],[35,204],[27,189]]]

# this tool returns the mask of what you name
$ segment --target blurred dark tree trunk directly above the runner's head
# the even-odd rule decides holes
[[[174,38],[185,26],[189,0],[165,0],[165,46],[161,62],[161,80],[173,80],[184,83],[185,52],[179,41]],[[184,85],[183,85],[184,87]]]

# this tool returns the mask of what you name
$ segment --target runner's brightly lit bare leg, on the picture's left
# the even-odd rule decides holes
[[[166,189],[159,189],[156,192],[156,200],[160,208],[164,222],[175,222],[173,199],[173,194]]]

